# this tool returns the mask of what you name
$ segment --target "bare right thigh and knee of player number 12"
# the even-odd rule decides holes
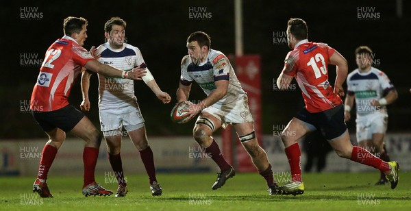
[[[97,141],[100,136],[99,130],[92,124],[87,116],[83,116],[82,120],[80,120],[70,132],[71,134],[86,140],[86,142]]]

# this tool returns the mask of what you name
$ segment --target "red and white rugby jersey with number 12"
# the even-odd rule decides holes
[[[50,112],[69,105],[74,80],[88,61],[94,60],[84,47],[64,36],[47,49],[34,85],[30,109]]]

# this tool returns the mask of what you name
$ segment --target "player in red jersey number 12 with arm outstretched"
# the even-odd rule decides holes
[[[82,193],[88,195],[111,195],[95,182],[95,166],[99,155],[101,134],[86,116],[67,100],[74,80],[82,66],[90,71],[109,77],[123,77],[140,80],[144,69],[121,71],[95,60],[82,46],[87,38],[87,21],[69,16],[64,19],[64,36],[47,49],[45,60],[40,67],[34,85],[30,110],[38,125],[49,136],[42,150],[38,176],[33,184],[33,192],[40,197],[53,197],[47,186],[47,174],[58,149],[66,138],[66,132],[86,141],[83,151],[84,184]]]

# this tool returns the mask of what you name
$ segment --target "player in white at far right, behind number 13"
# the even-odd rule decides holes
[[[384,72],[371,66],[373,51],[369,47],[360,46],[355,52],[358,69],[349,73],[347,77],[345,121],[351,119],[350,111],[355,98],[358,145],[389,162],[390,157],[384,145],[388,121],[386,105],[397,99],[397,90]],[[375,185],[387,183],[384,172],[380,171],[379,180]]]

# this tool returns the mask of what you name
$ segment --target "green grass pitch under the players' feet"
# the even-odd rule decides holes
[[[214,173],[158,174],[163,195],[152,197],[147,175],[127,175],[126,197],[84,197],[82,176],[49,175],[53,199],[32,193],[34,177],[0,177],[0,210],[411,210],[411,173],[395,190],[374,186],[379,173],[303,173],[303,195],[269,196],[257,173],[238,173],[212,190]],[[97,182],[115,193],[112,179]]]

